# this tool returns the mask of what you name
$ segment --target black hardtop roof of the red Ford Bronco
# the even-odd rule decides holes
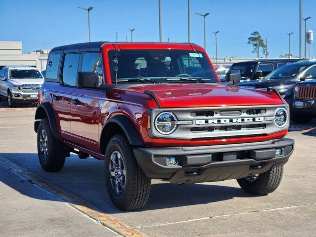
[[[159,43],[159,42],[110,42],[110,41],[97,41],[97,42],[85,42],[85,43],[75,43],[75,44],[68,44],[62,45],[58,47],[54,47],[52,51],[100,51],[100,48],[105,43]],[[164,42],[163,42],[164,43]],[[187,42],[183,42],[184,44],[188,44]],[[172,43],[170,43],[172,44]],[[196,45],[195,43],[190,43],[192,45]]]

